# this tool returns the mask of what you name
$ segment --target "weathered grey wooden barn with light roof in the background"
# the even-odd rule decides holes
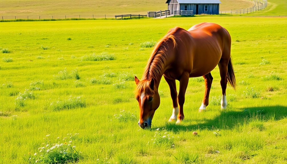
[[[167,0],[170,14],[174,11],[193,10],[194,14],[219,14],[220,0]]]

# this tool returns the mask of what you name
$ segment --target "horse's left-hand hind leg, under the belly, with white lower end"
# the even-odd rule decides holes
[[[206,109],[206,107],[208,106],[209,93],[210,93],[210,88],[211,88],[211,84],[212,84],[212,80],[213,80],[211,73],[204,75],[203,78],[204,78],[204,82],[205,82],[205,93],[204,93],[204,98],[202,100],[202,104],[199,108],[199,112],[204,111]]]

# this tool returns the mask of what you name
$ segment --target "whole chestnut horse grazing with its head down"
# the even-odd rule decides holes
[[[173,103],[169,121],[183,118],[185,91],[190,77],[203,76],[205,93],[199,112],[208,106],[212,84],[211,71],[218,65],[221,77],[221,108],[226,109],[227,82],[235,89],[236,81],[230,56],[231,37],[218,24],[201,23],[189,30],[171,29],[154,47],[141,81],[135,77],[137,85],[135,97],[139,103],[139,126],[150,128],[154,112],[160,105],[158,86],[162,75],[170,87]],[[179,81],[177,94],[175,80]],[[179,105],[179,107],[178,107]]]

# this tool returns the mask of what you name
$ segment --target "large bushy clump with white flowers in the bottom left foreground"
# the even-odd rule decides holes
[[[76,146],[73,144],[73,138],[76,138],[77,135],[78,133],[67,134],[63,139],[58,137],[57,143],[52,143],[49,138],[50,135],[46,135],[42,147],[30,155],[28,163],[64,164],[78,162],[83,159],[83,155],[80,151],[76,151]]]

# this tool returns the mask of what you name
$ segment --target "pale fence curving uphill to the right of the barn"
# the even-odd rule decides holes
[[[256,2],[255,2],[256,1]],[[258,2],[259,1],[259,2]],[[260,0],[254,0],[255,5],[253,7],[249,7],[247,9],[237,9],[237,10],[230,10],[230,11],[220,11],[220,14],[248,14],[253,13],[256,11],[263,10],[267,7],[267,0],[263,0],[262,2]]]

